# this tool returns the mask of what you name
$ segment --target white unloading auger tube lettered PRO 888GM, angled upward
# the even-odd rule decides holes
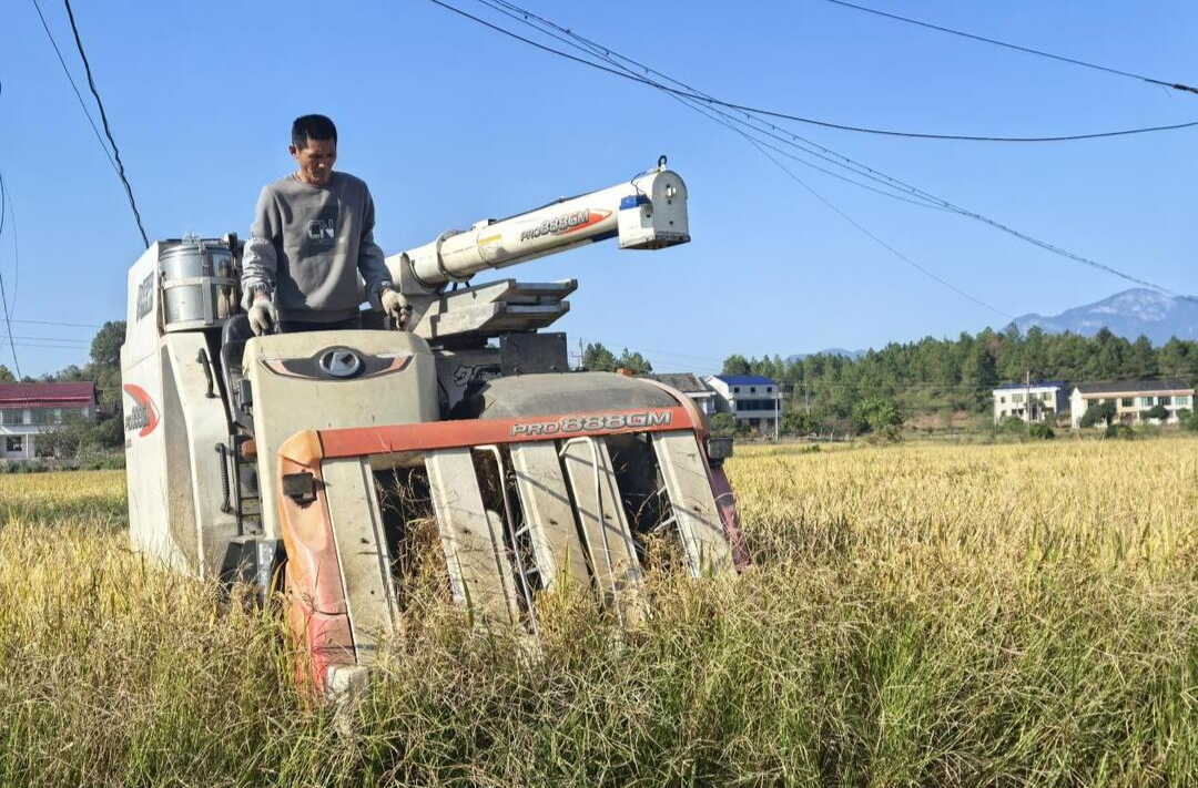
[[[400,292],[432,291],[486,268],[615,237],[621,249],[661,249],[690,241],[686,186],[665,169],[665,157],[657,170],[627,183],[443,232],[431,243],[387,257],[387,267]]]

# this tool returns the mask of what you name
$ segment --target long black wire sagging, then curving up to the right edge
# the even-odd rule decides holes
[[[461,8],[456,8],[456,7],[454,7],[454,6],[452,6],[452,5],[447,4],[447,2],[442,2],[441,0],[429,0],[429,1],[432,2],[432,4],[435,4],[435,5],[441,6],[442,8],[446,8],[448,11],[453,11],[454,13],[461,14],[461,16],[468,18],[468,19],[473,19],[474,22],[477,22],[479,24],[486,25],[488,28],[490,28],[490,29],[492,29],[492,30],[495,30],[497,32],[502,32],[502,34],[504,34],[507,36],[512,36],[513,38],[522,41],[522,42],[525,42],[527,44],[531,44],[533,47],[537,47],[539,49],[544,49],[545,51],[550,51],[550,53],[552,53],[555,55],[558,55],[558,56],[562,56],[562,57],[568,57],[568,59],[574,60],[576,62],[591,66],[592,68],[599,68],[600,71],[606,71],[607,73],[615,74],[617,77],[623,77],[624,79],[630,79],[633,81],[639,81],[639,83],[642,83],[642,84],[651,84],[649,80],[645,79],[643,77],[640,77],[639,74],[623,73],[623,72],[613,71],[613,69],[610,69],[610,68],[605,68],[604,66],[600,66],[599,63],[595,63],[593,61],[585,60],[582,57],[575,57],[574,55],[570,55],[568,53],[561,51],[558,49],[553,49],[552,47],[546,47],[546,46],[540,44],[540,43],[538,43],[536,41],[532,41],[530,38],[525,38],[524,36],[520,36],[519,34],[514,34],[510,30],[507,30],[507,29],[501,28],[498,25],[494,25],[494,24],[486,22],[485,19],[482,19],[480,17],[476,17],[476,16],[473,16],[471,13],[467,13],[466,11],[462,11]],[[479,1],[482,1],[482,0],[479,0]],[[489,5],[489,4],[484,4],[484,5]],[[519,8],[518,6],[513,6],[512,4],[507,4],[507,2],[504,2],[503,5],[506,5],[508,7],[512,7],[512,8]],[[494,7],[494,6],[491,6],[491,7]],[[540,19],[540,17],[537,17],[532,12],[525,11],[522,8],[519,8],[518,13],[521,13],[521,14],[525,14],[525,16],[528,16],[528,17],[536,17],[536,18]],[[564,28],[563,28],[563,30],[564,30]],[[1135,135],[1135,134],[1151,134],[1151,133],[1156,133],[1156,132],[1168,132],[1168,131],[1175,131],[1175,129],[1181,129],[1181,128],[1192,128],[1194,126],[1198,126],[1198,121],[1191,121],[1191,122],[1186,122],[1186,123],[1174,123],[1174,125],[1169,125],[1169,126],[1149,126],[1149,127],[1140,127],[1140,128],[1125,128],[1125,129],[1118,129],[1118,131],[1113,131],[1113,132],[1095,132],[1095,133],[1090,133],[1090,134],[1065,134],[1065,135],[1059,135],[1059,137],[997,137],[997,135],[969,135],[969,134],[933,134],[933,133],[928,133],[928,132],[906,132],[906,131],[895,131],[895,129],[871,128],[871,127],[866,127],[866,126],[851,126],[851,125],[846,125],[846,123],[834,123],[834,122],[830,122],[830,121],[822,121],[822,120],[817,120],[817,119],[813,119],[813,117],[805,117],[805,116],[801,116],[801,115],[793,115],[793,114],[789,114],[789,113],[782,113],[782,111],[778,111],[778,110],[762,109],[762,108],[758,108],[758,107],[749,107],[746,104],[737,104],[734,102],[722,101],[722,99],[715,98],[714,96],[709,96],[709,95],[706,95],[706,93],[688,92],[688,91],[678,90],[678,89],[674,89],[674,87],[662,87],[662,90],[667,90],[667,91],[670,91],[672,93],[676,93],[678,96],[685,96],[686,98],[692,98],[695,101],[701,101],[701,102],[704,102],[704,103],[708,103],[708,104],[718,104],[718,105],[724,107],[726,109],[734,109],[734,110],[742,111],[742,113],[754,113],[754,114],[757,114],[757,115],[768,115],[770,117],[785,119],[785,120],[795,121],[795,122],[799,122],[799,123],[809,123],[809,125],[812,125],[812,126],[821,126],[823,128],[835,128],[835,129],[840,129],[840,131],[845,131],[845,132],[855,132],[855,133],[860,133],[860,134],[879,134],[879,135],[883,135],[883,137],[902,137],[902,138],[909,138],[909,139],[954,140],[954,141],[969,141],[969,143],[1072,143],[1072,141],[1078,141],[1078,140],[1102,139],[1102,138],[1112,138],[1112,137],[1131,137],[1131,135]]]

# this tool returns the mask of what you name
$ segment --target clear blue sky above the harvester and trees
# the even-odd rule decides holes
[[[66,13],[41,2],[90,103]],[[819,0],[524,5],[719,97],[843,123],[1023,135],[1198,120],[1198,96]],[[872,5],[1198,83],[1193,2]],[[575,345],[627,345],[661,370],[708,371],[731,352],[855,348],[1005,322],[891,256],[732,132],[424,0],[75,6],[151,237],[244,235],[261,186],[291,170],[291,119],[321,111],[340,131],[338,166],[374,192],[388,253],[611,186],[667,153],[690,189],[692,243],[633,253],[609,242],[504,274],[577,278],[558,323]],[[31,2],[8,7],[0,80],[0,171],[20,254],[18,283],[10,225],[0,272],[18,290],[13,317],[123,317],[140,237]],[[1057,145],[794,129],[1061,247],[1198,291],[1198,129]],[[1005,313],[1055,313],[1131,286],[968,219],[794,170],[887,243]],[[36,338],[17,347],[26,374],[81,362],[91,333],[13,323],[13,334]],[[78,350],[34,346],[67,340]],[[5,345],[0,363],[11,360]]]

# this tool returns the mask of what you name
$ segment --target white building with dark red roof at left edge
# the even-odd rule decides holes
[[[37,436],[73,416],[96,418],[95,383],[0,383],[0,462],[37,456]]]

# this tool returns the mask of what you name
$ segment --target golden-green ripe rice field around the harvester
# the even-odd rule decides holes
[[[738,451],[749,572],[536,651],[441,611],[351,725],[120,473],[0,475],[0,782],[1198,784],[1198,440]]]

